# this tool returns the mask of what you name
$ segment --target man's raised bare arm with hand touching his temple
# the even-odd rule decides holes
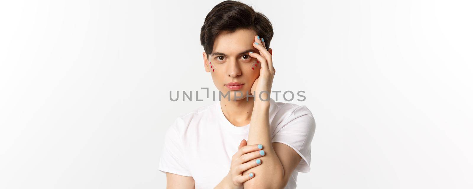
[[[260,166],[244,172],[254,172],[254,179],[244,183],[245,189],[282,189],[289,181],[289,176],[301,160],[300,155],[291,147],[271,142],[269,125],[270,92],[275,69],[272,66],[272,49],[266,50],[265,44],[255,36],[254,47],[259,54],[250,53],[261,63],[260,77],[254,82],[251,91],[254,92],[254,107],[250,121],[248,145],[262,144],[265,146],[264,156]],[[267,91],[269,93],[264,93]],[[260,98],[261,97],[261,98]],[[264,101],[267,99],[268,101]],[[263,153],[263,152],[262,152]]]

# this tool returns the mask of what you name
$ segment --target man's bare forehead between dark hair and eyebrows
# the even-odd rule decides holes
[[[253,42],[256,32],[252,29],[238,29],[235,32],[222,32],[213,43],[213,52],[236,54],[247,49],[254,49]]]

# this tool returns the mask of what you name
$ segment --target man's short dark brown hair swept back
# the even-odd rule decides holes
[[[207,53],[207,58],[213,51],[217,35],[223,31],[235,32],[237,29],[253,29],[264,39],[266,49],[269,49],[274,34],[269,19],[245,3],[226,0],[210,10],[201,28],[201,45]]]

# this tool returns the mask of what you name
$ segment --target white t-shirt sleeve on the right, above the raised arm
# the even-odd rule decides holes
[[[302,157],[294,171],[309,172],[310,144],[315,133],[315,119],[312,112],[306,106],[299,106],[284,121],[282,127],[276,129],[277,133],[272,137],[272,142],[288,145]]]

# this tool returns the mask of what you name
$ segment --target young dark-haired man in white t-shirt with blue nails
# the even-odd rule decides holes
[[[298,172],[310,171],[312,113],[268,93],[276,71],[272,36],[268,18],[237,1],[207,15],[204,68],[222,94],[230,93],[167,130],[159,170],[168,189],[294,189]]]

